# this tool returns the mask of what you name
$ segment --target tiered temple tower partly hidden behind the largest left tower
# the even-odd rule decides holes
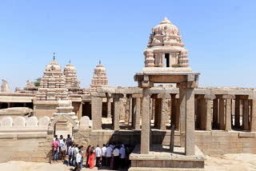
[[[66,88],[69,90],[69,93],[82,93],[74,65],[71,63],[67,64],[64,68],[64,75],[66,76]]]

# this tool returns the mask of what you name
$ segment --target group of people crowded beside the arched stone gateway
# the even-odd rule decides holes
[[[58,154],[60,153],[61,160],[65,161],[66,154],[68,155],[67,165],[73,165],[74,170],[81,170],[84,159],[86,160],[86,167],[94,168],[94,159],[96,157],[96,167],[109,167],[113,169],[125,168],[129,165],[129,155],[132,148],[129,145],[124,145],[122,142],[103,144],[102,148],[97,145],[88,145],[86,153],[83,152],[83,145],[75,144],[68,134],[66,139],[61,135],[54,136],[54,141],[51,144],[54,150],[54,161],[58,161]]]

